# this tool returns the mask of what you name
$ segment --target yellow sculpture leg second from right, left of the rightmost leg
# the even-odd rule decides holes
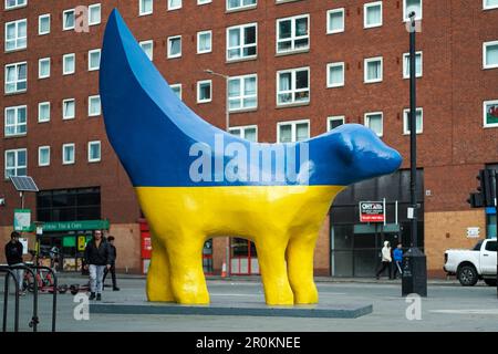
[[[287,240],[278,243],[274,235],[263,236],[256,242],[264,298],[269,305],[291,305],[294,295],[286,269]]]

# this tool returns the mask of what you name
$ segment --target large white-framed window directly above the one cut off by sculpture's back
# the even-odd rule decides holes
[[[310,102],[310,69],[277,72],[277,105]]]

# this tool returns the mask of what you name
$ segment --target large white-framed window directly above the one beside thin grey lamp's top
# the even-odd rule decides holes
[[[227,29],[227,60],[252,59],[257,55],[256,23]]]

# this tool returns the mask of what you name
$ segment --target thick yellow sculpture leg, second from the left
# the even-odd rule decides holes
[[[170,282],[176,302],[208,304],[209,293],[203,270],[204,238],[200,235],[177,235],[167,241]]]

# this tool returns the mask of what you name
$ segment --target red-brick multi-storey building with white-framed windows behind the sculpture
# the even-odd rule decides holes
[[[8,177],[29,175],[40,192],[27,194],[25,208],[44,225],[42,246],[62,248],[66,269],[77,268],[94,228],[116,237],[120,269],[146,268],[148,227],[100,108],[113,8],[180,98],[218,127],[228,118],[232,134],[284,143],[357,123],[400,150],[398,173],[352,186],[324,220],[315,272],[333,277],[373,275],[385,239],[409,246],[406,23],[415,11],[418,235],[429,274],[442,273],[445,249],[475,243],[467,228],[496,236],[492,210],[466,199],[477,171],[498,163],[498,0],[2,2],[4,241],[21,207]],[[359,202],[373,200],[385,200],[385,222],[360,222]],[[230,273],[259,272],[243,239],[209,241],[203,258],[208,273],[227,259]]]

